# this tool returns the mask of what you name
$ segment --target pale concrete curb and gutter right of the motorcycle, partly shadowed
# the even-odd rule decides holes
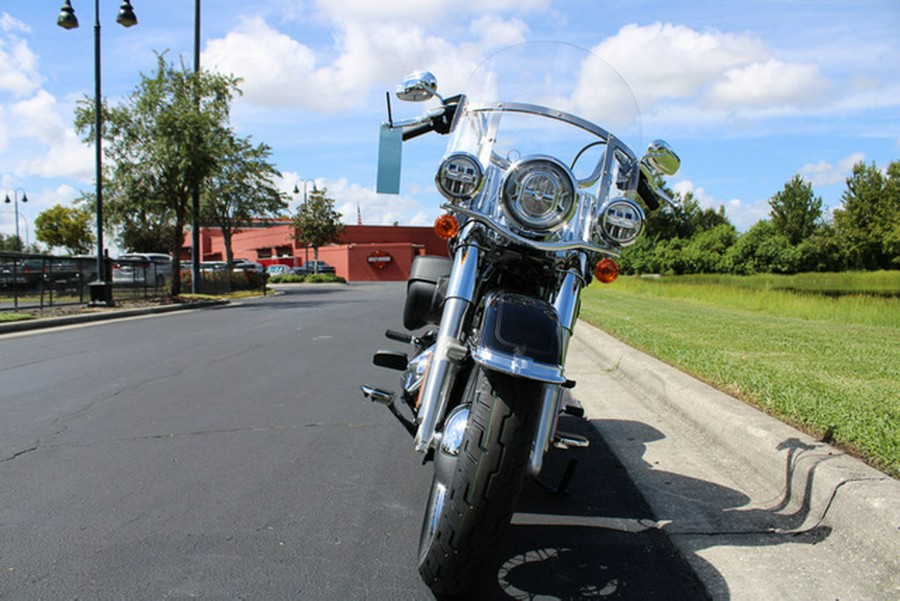
[[[567,375],[713,599],[900,598],[900,482],[583,322]]]

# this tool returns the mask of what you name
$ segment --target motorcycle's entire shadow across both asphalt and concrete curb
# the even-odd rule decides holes
[[[805,473],[797,467],[811,450],[799,440],[779,447],[787,452],[784,494],[762,508],[748,506],[741,491],[643,462],[642,479],[679,498],[671,504],[674,513],[654,516],[598,433],[599,423],[561,422],[560,429],[587,437],[591,446],[548,454],[542,478],[551,485],[570,459],[578,460],[567,494],[526,483],[478,599],[728,599],[728,583],[698,552],[719,545],[816,544],[831,532],[815,524],[803,529],[816,466]],[[641,457],[648,443],[663,438],[639,422],[602,424],[627,432],[630,452]],[[690,560],[703,583],[670,536],[691,537]]]

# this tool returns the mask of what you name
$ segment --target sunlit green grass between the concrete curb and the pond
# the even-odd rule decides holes
[[[582,318],[900,475],[900,299],[748,284],[621,278]]]

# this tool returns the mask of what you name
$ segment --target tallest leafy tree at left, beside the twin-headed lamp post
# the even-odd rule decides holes
[[[112,166],[107,202],[111,219],[129,223],[156,221],[171,227],[172,294],[181,293],[179,255],[190,215],[191,192],[214,172],[228,135],[231,101],[240,93],[231,76],[176,69],[162,54],[157,71],[142,75],[137,89],[120,105],[104,106],[102,132]],[[94,106],[85,99],[75,111],[75,126],[93,139]],[[133,225],[133,222],[132,222]],[[126,227],[126,231],[128,228]],[[146,248],[135,250],[146,251]]]

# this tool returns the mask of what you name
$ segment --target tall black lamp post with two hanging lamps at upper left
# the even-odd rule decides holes
[[[123,0],[119,7],[116,23],[123,27],[137,25],[137,17],[129,0]],[[63,29],[78,27],[75,9],[70,0],[60,10],[56,24]],[[91,282],[92,305],[112,306],[112,282],[108,281],[103,260],[103,97],[100,86],[100,0],[94,0],[94,162],[97,202],[97,281]]]

